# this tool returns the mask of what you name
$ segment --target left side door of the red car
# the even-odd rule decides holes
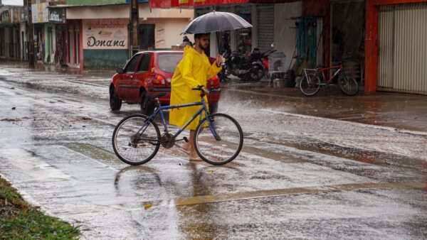
[[[134,88],[134,86],[132,86],[132,81],[139,58],[141,58],[141,54],[136,54],[127,62],[119,80],[119,96],[125,101],[132,102],[132,89]]]

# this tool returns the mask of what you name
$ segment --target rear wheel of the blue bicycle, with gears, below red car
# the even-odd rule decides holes
[[[125,117],[112,133],[115,154],[130,165],[147,163],[159,151],[159,146],[159,127],[142,114]]]

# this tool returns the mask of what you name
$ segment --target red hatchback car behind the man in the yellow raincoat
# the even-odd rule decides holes
[[[141,104],[142,114],[151,114],[154,110],[153,99],[147,100],[146,94],[167,92],[159,98],[162,105],[169,105],[171,78],[176,65],[182,58],[182,51],[156,50],[136,53],[123,68],[117,69],[110,84],[110,108],[120,110],[122,102]],[[215,59],[213,59],[215,60]],[[212,59],[211,59],[212,61]],[[209,109],[215,112],[220,97],[218,77],[208,80],[206,87],[211,88]]]

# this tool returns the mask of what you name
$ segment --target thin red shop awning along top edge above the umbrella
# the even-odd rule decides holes
[[[224,4],[275,4],[298,0],[149,0],[152,9],[168,9],[188,6],[209,6]]]

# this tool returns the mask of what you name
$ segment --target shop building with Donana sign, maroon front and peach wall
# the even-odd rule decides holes
[[[149,9],[144,0],[138,1],[138,11],[138,45],[132,46],[129,0],[68,0],[70,63],[80,68],[122,67],[135,48],[161,50],[181,43],[179,29],[193,18],[192,10]]]

